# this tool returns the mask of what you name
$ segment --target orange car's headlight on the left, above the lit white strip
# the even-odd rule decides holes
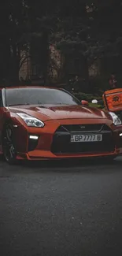
[[[17,113],[17,115],[19,117],[21,117],[24,122],[30,126],[30,127],[44,127],[44,123],[43,121],[40,121],[39,119],[35,118],[35,117],[31,117],[29,115],[27,115],[26,113]]]

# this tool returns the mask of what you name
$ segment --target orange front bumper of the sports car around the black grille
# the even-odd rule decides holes
[[[24,140],[20,139],[18,142],[17,158],[28,160],[45,160],[62,158],[93,158],[122,154],[122,137],[120,137],[122,127],[116,128],[110,123],[110,121],[107,122],[106,120],[103,121],[102,119],[97,120],[97,124],[94,124],[94,120],[87,120],[87,124],[86,120],[83,121],[77,119],[73,120],[73,122],[69,120],[48,121],[48,125],[46,125],[45,128],[28,128],[28,131],[24,129]],[[80,143],[79,144],[81,147],[79,144],[76,145],[76,143],[73,143],[72,145],[72,143],[69,143],[71,131],[65,131],[63,133],[59,128],[61,125],[73,125],[75,127],[75,125],[79,124],[86,124],[92,128],[94,125],[105,124],[108,130],[102,131],[104,135],[104,141],[102,144],[96,146],[90,143],[89,147],[85,148],[82,147]],[[94,130],[87,132],[94,133]],[[57,136],[57,133],[61,136]],[[37,143],[34,143],[34,145],[29,144],[29,135],[39,136]]]

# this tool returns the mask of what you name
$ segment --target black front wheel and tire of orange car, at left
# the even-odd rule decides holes
[[[8,123],[5,125],[2,134],[2,151],[6,162],[9,165],[17,164],[17,150],[14,137],[13,125]]]

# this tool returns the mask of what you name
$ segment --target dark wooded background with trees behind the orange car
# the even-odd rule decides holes
[[[122,87],[121,1],[1,0],[1,84],[101,93],[112,73]]]

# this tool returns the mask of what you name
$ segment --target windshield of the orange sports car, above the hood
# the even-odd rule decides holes
[[[54,88],[6,89],[6,106],[15,105],[80,105],[67,91]]]

